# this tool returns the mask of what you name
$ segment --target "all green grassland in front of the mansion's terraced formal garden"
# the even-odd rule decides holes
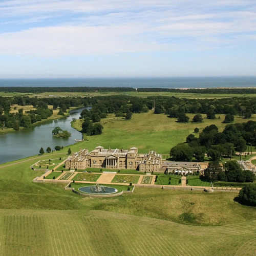
[[[33,163],[28,158],[0,165],[3,255],[255,252],[256,211],[234,201],[236,192],[136,187],[133,194],[90,199],[63,184],[32,183],[44,174],[31,170]]]

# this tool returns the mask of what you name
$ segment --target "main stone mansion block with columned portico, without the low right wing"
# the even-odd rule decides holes
[[[97,146],[89,152],[87,148],[80,149],[65,162],[65,167],[70,169],[86,169],[87,167],[107,169],[137,169],[141,172],[161,172],[162,156],[155,151],[148,154],[138,154],[137,147],[129,150],[116,148],[105,149]]]

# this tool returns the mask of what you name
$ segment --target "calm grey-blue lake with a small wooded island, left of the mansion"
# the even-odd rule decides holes
[[[39,154],[40,148],[48,146],[54,150],[55,146],[68,146],[75,143],[75,139],[82,139],[82,134],[71,127],[73,118],[78,119],[84,109],[71,110],[70,115],[61,119],[42,123],[30,129],[24,129],[13,133],[0,134],[0,163],[33,156]],[[55,138],[52,130],[59,126],[62,130],[71,133],[68,139]]]

